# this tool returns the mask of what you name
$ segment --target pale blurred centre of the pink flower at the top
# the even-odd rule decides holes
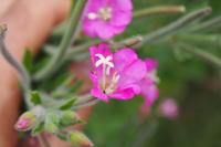
[[[103,21],[109,21],[113,17],[113,9],[110,7],[104,7],[98,10],[98,12],[91,12],[87,14],[88,19],[102,19]]]

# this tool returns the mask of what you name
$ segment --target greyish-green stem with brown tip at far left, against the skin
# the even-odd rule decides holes
[[[7,27],[0,25],[0,51],[3,57],[19,72],[20,82],[24,91],[30,87],[30,76],[22,64],[20,64],[17,59],[9,52],[4,43]]]

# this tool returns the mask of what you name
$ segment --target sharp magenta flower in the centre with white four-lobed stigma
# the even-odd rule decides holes
[[[140,93],[139,82],[147,73],[146,63],[131,49],[112,53],[107,44],[90,48],[94,84],[91,94],[102,101],[130,99]]]

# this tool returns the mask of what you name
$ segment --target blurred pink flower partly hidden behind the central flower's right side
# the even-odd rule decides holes
[[[159,96],[158,88],[156,84],[159,82],[156,71],[158,62],[154,59],[145,60],[147,73],[146,76],[139,82],[140,94],[145,98],[145,104],[143,107],[151,106],[156,98]]]

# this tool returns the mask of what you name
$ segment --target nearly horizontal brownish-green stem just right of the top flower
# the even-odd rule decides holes
[[[137,10],[134,13],[134,18],[159,14],[159,13],[183,13],[186,12],[185,6],[162,6],[162,7],[152,7],[141,10]]]

